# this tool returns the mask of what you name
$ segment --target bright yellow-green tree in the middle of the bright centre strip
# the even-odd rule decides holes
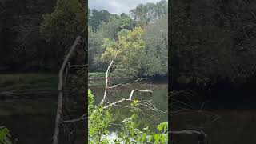
[[[133,30],[121,30],[117,41],[105,39],[102,61],[109,63],[114,60],[117,69],[129,68],[126,74],[142,75],[143,58],[146,56],[142,34],[142,28],[135,27]]]

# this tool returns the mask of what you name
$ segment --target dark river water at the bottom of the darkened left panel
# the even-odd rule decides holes
[[[17,139],[17,144],[48,144],[54,134],[56,110],[54,100],[0,102],[0,126],[10,130],[11,140]],[[84,135],[78,135],[75,143],[86,143]]]

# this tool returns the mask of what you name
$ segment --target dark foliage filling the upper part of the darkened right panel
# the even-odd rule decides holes
[[[241,84],[256,72],[255,1],[171,3],[171,81]]]

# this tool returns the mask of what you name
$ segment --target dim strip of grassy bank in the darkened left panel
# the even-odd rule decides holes
[[[1,90],[56,88],[58,74],[0,74]]]

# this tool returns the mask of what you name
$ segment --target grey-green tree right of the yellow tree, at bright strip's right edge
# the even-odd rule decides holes
[[[146,75],[165,75],[168,73],[168,19],[161,18],[145,28]]]

